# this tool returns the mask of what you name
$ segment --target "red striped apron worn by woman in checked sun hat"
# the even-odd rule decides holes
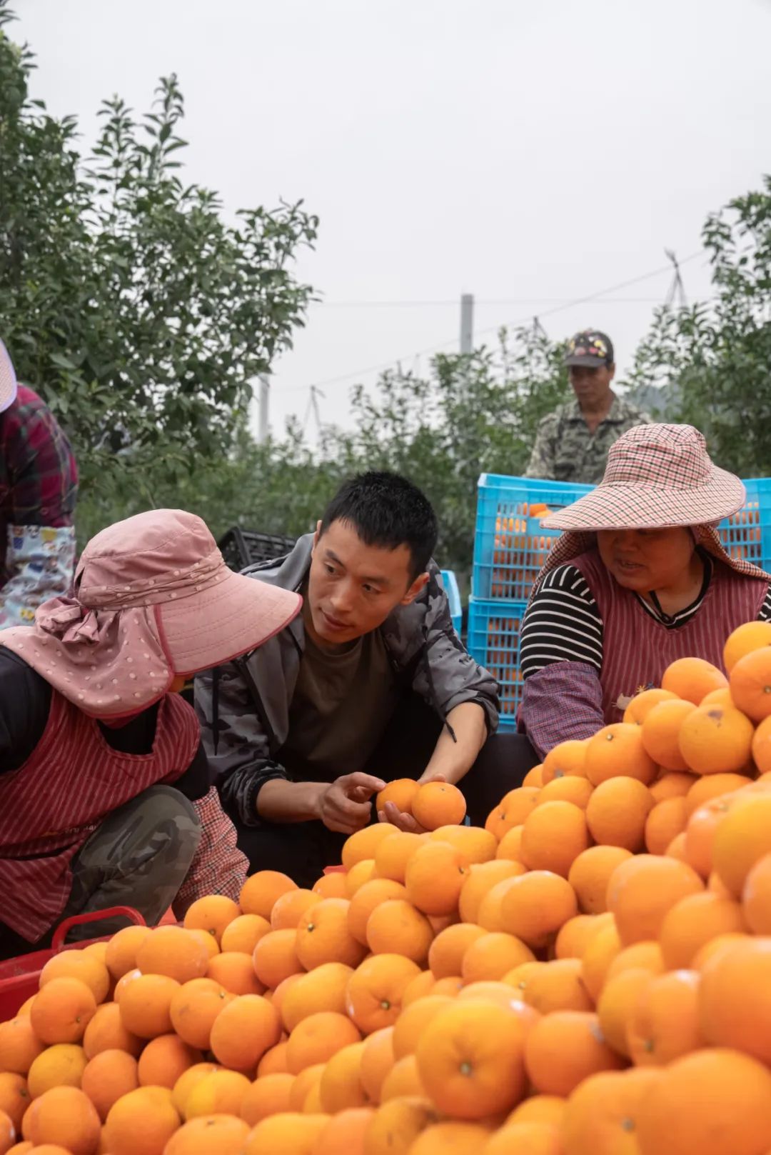
[[[596,550],[571,561],[589,582],[602,618],[602,711],[605,722],[620,722],[619,699],[641,687],[660,686],[661,676],[679,657],[703,657],[723,669],[728,634],[754,621],[769,588],[761,578],[738,574],[714,561],[712,580],[696,614],[684,626],[667,629],[639,604],[631,590],[611,576]]]

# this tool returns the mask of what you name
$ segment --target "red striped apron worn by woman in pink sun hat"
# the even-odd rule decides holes
[[[178,694],[160,700],[151,752],[121,754],[53,691],[37,746],[0,775],[0,922],[40,938],[65,909],[70,863],[99,822],[148,787],[175,782],[199,742],[195,711]]]

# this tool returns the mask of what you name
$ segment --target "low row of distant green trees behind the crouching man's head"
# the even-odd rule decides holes
[[[81,536],[148,504],[181,505],[200,514],[218,536],[240,524],[272,534],[313,529],[323,507],[351,474],[392,469],[405,474],[433,502],[440,523],[437,557],[467,579],[473,553],[480,472],[523,472],[545,412],[568,395],[563,346],[542,333],[522,330],[509,344],[469,356],[439,356],[427,375],[384,373],[372,393],[352,395],[352,427],[324,427],[313,450],[291,424],[286,435],[255,445],[242,433],[234,452],[172,485],[144,493],[113,491],[108,501],[82,507]],[[104,489],[103,489],[104,493]]]

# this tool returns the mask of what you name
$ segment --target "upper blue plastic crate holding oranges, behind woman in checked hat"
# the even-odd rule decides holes
[[[771,479],[744,482],[747,502],[720,522],[728,553],[771,569]],[[540,524],[546,512],[563,509],[591,485],[482,474],[479,478],[472,593],[482,601],[526,601],[560,530]],[[533,511],[533,507],[534,511]],[[546,507],[546,508],[544,508]]]

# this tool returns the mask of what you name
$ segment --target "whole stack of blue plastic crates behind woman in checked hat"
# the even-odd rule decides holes
[[[732,557],[771,571],[771,478],[750,478],[744,486],[744,506],[718,530]],[[497,474],[479,478],[467,647],[501,685],[503,730],[516,728],[522,698],[522,616],[533,581],[560,536],[560,530],[541,527],[542,507],[562,509],[591,489]]]

